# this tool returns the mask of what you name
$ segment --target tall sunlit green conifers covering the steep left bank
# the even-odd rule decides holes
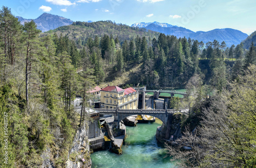
[[[65,167],[79,122],[86,119],[74,112],[73,100],[89,99],[93,70],[77,73],[70,40],[65,48],[60,38],[39,38],[34,21],[20,25],[7,7],[0,20],[0,151],[8,156],[1,154],[0,167],[41,167],[45,159]]]

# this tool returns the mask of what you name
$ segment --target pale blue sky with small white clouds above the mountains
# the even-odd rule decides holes
[[[255,0],[0,0],[15,16],[35,19],[44,12],[73,21],[166,22],[192,31],[256,30]]]

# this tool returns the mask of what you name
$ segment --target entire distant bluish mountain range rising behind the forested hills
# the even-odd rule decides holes
[[[30,21],[31,19],[25,19],[23,17],[17,16],[18,20],[22,25],[24,25],[25,22]],[[43,13],[36,19],[34,19],[37,28],[40,29],[42,32],[46,32],[49,30],[54,30],[56,28],[62,27],[62,26],[68,26],[73,23],[72,20],[67,19],[65,17],[61,17],[58,15],[53,15],[49,13]],[[87,22],[93,22],[93,21],[87,21]],[[215,29],[207,32],[198,31],[194,32],[189,29],[169,25],[168,23],[160,23],[160,22],[140,22],[135,23],[132,25],[132,27],[137,28],[144,28],[146,30],[152,30],[155,32],[164,33],[166,35],[174,35],[179,37],[190,37],[191,39],[203,41],[204,43],[208,41],[214,41],[217,40],[220,43],[222,41],[226,42],[227,46],[231,46],[232,44],[237,45],[241,43],[243,40],[245,40],[248,35],[234,29]]]

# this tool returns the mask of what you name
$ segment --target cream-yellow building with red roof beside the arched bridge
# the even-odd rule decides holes
[[[100,93],[101,108],[138,109],[139,93],[132,87],[121,89],[118,86],[107,86]]]

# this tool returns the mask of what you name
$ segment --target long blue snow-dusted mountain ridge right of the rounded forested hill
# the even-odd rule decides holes
[[[247,34],[234,29],[215,29],[208,32],[198,31],[193,32],[189,29],[169,25],[168,23],[159,23],[159,22],[141,22],[135,23],[132,27],[145,28],[147,30],[152,30],[160,33],[164,33],[166,35],[174,35],[177,37],[190,37],[191,39],[203,41],[204,43],[208,41],[217,40],[220,43],[222,41],[226,42],[227,46],[231,46],[232,44],[237,45],[240,44],[244,39],[248,37]]]

